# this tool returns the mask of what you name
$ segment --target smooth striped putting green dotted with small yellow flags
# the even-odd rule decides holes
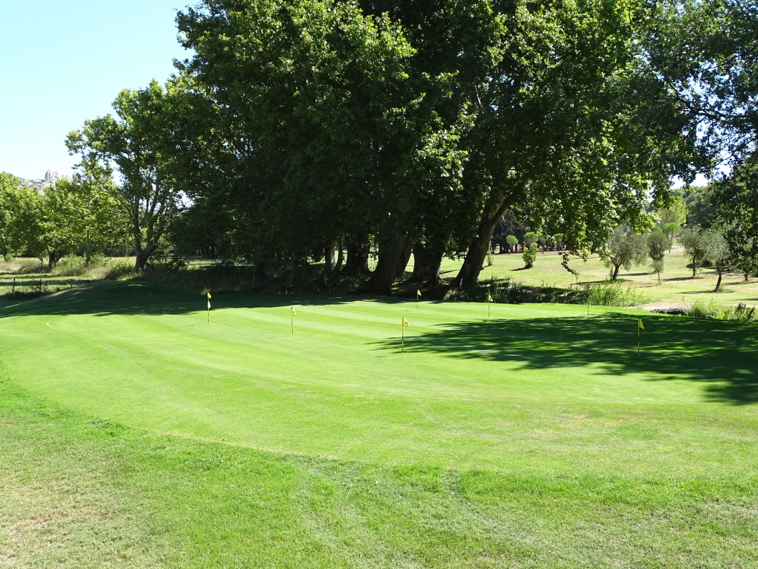
[[[93,417],[272,451],[556,474],[758,466],[755,325],[642,316],[637,357],[634,311],[212,302],[208,323],[204,297],[129,282],[6,307],[0,358]]]

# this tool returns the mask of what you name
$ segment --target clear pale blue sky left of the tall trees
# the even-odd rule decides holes
[[[0,171],[39,179],[70,174],[64,140],[111,112],[122,89],[164,82],[177,42],[177,10],[194,0],[0,0]]]

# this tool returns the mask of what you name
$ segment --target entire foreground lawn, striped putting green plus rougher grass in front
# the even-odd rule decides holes
[[[754,324],[212,302],[129,281],[0,309],[0,564],[758,564]]]

